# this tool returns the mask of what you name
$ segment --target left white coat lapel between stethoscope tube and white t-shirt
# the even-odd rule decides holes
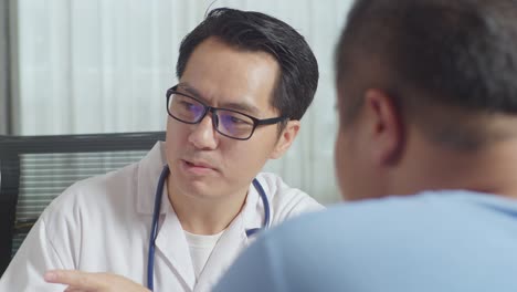
[[[167,194],[163,194],[162,209],[167,208],[163,223],[156,238],[156,247],[158,252],[155,257],[155,262],[165,261],[169,267],[176,270],[177,274],[187,286],[193,290],[196,285],[196,275],[193,272],[190,250],[184,236],[184,231],[178,219],[178,216],[172,209]],[[158,264],[156,264],[158,267]],[[157,269],[155,267],[155,269]]]

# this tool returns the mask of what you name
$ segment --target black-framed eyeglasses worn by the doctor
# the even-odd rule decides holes
[[[284,116],[258,119],[239,111],[209,106],[193,96],[178,92],[178,85],[167,91],[167,112],[172,118],[186,124],[198,124],[210,112],[213,128],[223,136],[239,140],[251,138],[257,126],[287,119]]]

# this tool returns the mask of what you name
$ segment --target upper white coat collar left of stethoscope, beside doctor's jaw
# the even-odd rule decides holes
[[[152,149],[138,163],[136,189],[137,211],[139,213],[152,215],[158,180],[166,164],[163,142],[157,142]],[[165,213],[165,210],[163,204],[161,204],[160,213]]]

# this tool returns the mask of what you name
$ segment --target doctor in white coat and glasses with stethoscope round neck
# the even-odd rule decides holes
[[[289,148],[317,87],[302,35],[262,13],[217,9],[182,41],[177,75],[163,108],[166,143],[56,198],[0,291],[63,291],[44,281],[52,269],[209,291],[257,230],[321,208],[260,173]]]

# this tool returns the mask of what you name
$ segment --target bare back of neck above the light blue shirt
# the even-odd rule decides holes
[[[408,155],[394,194],[464,189],[517,198],[517,138],[473,152],[425,147]]]

